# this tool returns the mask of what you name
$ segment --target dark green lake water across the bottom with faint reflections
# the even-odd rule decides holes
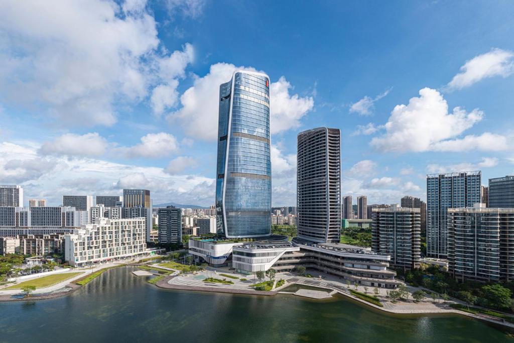
[[[160,290],[132,270],[108,270],[68,297],[0,303],[0,341],[514,342],[460,316],[390,316],[339,297]]]

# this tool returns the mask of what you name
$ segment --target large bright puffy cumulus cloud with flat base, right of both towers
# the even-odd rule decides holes
[[[411,98],[408,105],[394,107],[384,125],[386,133],[373,138],[371,145],[387,152],[506,149],[506,139],[499,135],[484,133],[457,138],[483,117],[484,113],[479,109],[467,113],[461,107],[455,107],[449,113],[448,103],[439,92],[423,88],[419,97]]]

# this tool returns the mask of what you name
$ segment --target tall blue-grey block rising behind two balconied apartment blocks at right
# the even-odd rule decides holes
[[[482,172],[427,175],[427,255],[448,255],[448,208],[480,203]]]

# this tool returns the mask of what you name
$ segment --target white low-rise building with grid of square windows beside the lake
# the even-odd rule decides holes
[[[146,219],[97,219],[65,235],[64,259],[72,266],[145,255]]]

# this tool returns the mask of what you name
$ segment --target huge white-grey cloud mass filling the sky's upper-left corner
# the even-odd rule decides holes
[[[139,102],[183,77],[192,47],[168,55],[146,2],[3,2],[0,94],[63,125],[112,125],[115,102]],[[172,92],[173,93],[173,92]],[[160,97],[160,105],[174,103]],[[155,100],[157,101],[157,100]],[[176,101],[176,100],[175,100]]]

